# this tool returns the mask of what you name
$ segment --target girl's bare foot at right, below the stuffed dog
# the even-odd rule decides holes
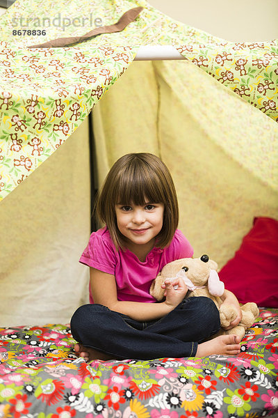
[[[196,357],[211,354],[237,355],[240,353],[240,337],[234,334],[216,336],[198,345]]]

